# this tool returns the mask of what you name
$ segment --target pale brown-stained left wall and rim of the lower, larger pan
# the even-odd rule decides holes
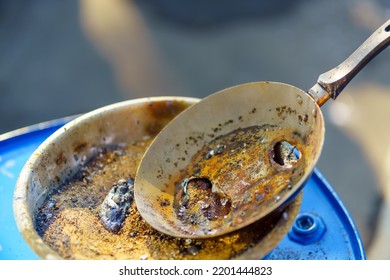
[[[15,220],[30,247],[41,258],[61,258],[34,230],[34,215],[45,197],[78,172],[80,163],[90,159],[97,147],[154,137],[158,128],[197,100],[156,97],[112,104],[76,118],[51,135],[26,162],[15,186]]]

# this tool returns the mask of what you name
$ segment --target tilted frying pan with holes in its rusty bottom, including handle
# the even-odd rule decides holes
[[[204,238],[286,205],[320,156],[320,106],[389,43],[390,20],[307,92],[255,82],[186,109],[160,132],[138,168],[135,200],[142,217],[166,234]]]

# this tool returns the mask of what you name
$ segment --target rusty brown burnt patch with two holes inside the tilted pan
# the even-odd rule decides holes
[[[204,145],[172,177],[185,230],[210,232],[272,207],[304,174],[304,139],[276,125],[238,128]],[[184,230],[184,228],[183,228]]]

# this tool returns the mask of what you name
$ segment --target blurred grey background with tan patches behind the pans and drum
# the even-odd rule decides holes
[[[390,0],[0,0],[0,134],[156,95],[252,81],[309,89]],[[318,169],[369,259],[390,259],[390,51],[323,106]]]

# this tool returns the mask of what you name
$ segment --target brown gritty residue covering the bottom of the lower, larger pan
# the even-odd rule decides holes
[[[261,223],[207,239],[175,238],[158,232],[141,217],[135,201],[131,203],[134,196],[131,180],[118,181],[118,178],[133,178],[150,142],[151,139],[99,149],[93,158],[83,162],[76,176],[49,195],[36,214],[36,230],[43,241],[65,259],[230,259],[261,244],[277,224],[287,222],[283,212],[277,212]],[[210,182],[204,179],[189,180],[186,187],[187,193],[196,189],[205,193],[212,191]],[[120,197],[115,198],[118,192],[128,194],[129,199],[123,203]],[[221,197],[215,197],[221,201]],[[111,225],[119,220],[114,219],[107,227],[101,218],[103,208],[110,210],[111,200],[118,206],[130,205],[123,221],[122,215],[118,216],[121,225],[117,230],[111,230]],[[210,207],[214,208],[213,203],[210,202]],[[222,206],[218,203],[215,208]],[[160,205],[167,207],[169,201],[162,200]],[[225,207],[213,212],[203,205],[204,215],[211,220],[226,215],[227,203]],[[292,209],[296,215],[296,206]],[[280,238],[276,235],[267,242],[274,244],[274,240]]]

